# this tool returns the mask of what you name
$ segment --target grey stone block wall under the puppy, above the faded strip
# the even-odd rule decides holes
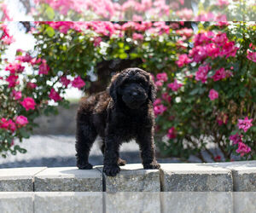
[[[141,164],[121,167],[118,176],[76,167],[0,170],[0,192],[256,192],[256,161],[212,164]]]

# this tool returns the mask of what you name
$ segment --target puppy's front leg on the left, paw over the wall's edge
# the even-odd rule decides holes
[[[107,176],[116,176],[120,171],[118,165],[119,141],[117,138],[118,136],[115,135],[106,137],[103,172]]]

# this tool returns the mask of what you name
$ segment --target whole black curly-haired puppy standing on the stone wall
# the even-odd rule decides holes
[[[103,171],[116,176],[119,147],[135,139],[139,144],[144,169],[159,169],[154,158],[155,86],[150,74],[139,68],[128,68],[113,76],[107,91],[84,98],[77,114],[77,166],[90,170],[90,148],[99,135],[104,155]]]

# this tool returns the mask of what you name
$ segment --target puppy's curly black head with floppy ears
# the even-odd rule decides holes
[[[148,100],[154,102],[156,89],[148,72],[127,68],[113,76],[108,92],[114,102],[123,101],[127,107],[138,109]]]

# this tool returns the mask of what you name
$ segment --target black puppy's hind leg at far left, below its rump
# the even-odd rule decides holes
[[[88,158],[90,154],[90,148],[93,142],[96,140],[97,132],[92,124],[82,122],[79,120],[77,123],[76,133],[76,157],[77,166],[80,170],[91,170],[92,165],[89,163]]]

